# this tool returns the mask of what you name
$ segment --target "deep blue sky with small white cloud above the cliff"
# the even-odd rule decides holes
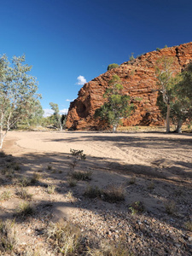
[[[192,41],[191,0],[0,0],[0,55],[26,55],[44,109],[85,81],[165,45]]]

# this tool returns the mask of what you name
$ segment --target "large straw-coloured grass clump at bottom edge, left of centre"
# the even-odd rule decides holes
[[[81,245],[81,231],[77,225],[67,221],[50,223],[45,234],[52,245],[63,255],[79,255],[78,250]]]

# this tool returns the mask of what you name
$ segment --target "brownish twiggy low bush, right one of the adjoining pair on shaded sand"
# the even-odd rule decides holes
[[[115,184],[108,185],[106,189],[102,190],[102,200],[111,203],[125,200],[125,189],[123,186]]]

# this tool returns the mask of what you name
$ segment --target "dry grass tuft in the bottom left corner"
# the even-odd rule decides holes
[[[9,219],[5,221],[0,220],[0,253],[3,253],[3,255],[4,253],[11,253],[16,245],[15,221]]]

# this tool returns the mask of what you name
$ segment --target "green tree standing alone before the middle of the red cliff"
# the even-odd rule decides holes
[[[130,96],[123,94],[123,85],[118,75],[113,75],[108,85],[103,95],[106,102],[101,108],[96,109],[95,118],[106,120],[108,125],[113,125],[113,132],[115,132],[120,119],[127,118],[134,110],[134,105],[131,103]]]

